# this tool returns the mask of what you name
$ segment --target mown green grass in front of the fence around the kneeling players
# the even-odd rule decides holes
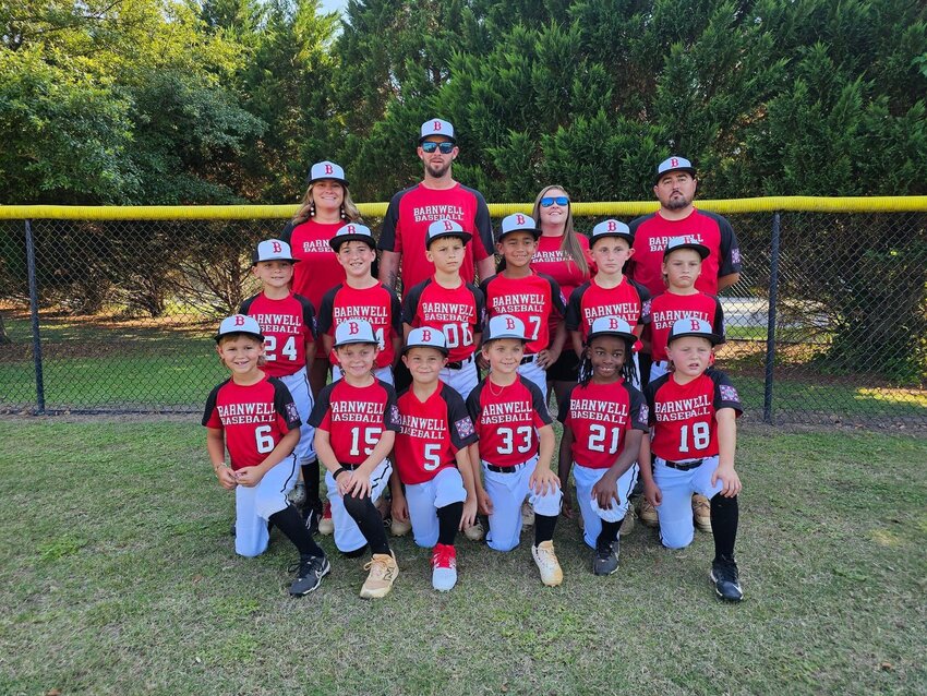
[[[719,603],[710,536],[663,550],[638,526],[593,577],[562,520],[564,585],[528,539],[462,540],[460,581],[395,542],[377,602],[341,559],[286,595],[274,536],[234,556],[231,496],[194,419],[0,420],[2,694],[917,694],[927,692],[927,440],[748,429],[738,559]]]

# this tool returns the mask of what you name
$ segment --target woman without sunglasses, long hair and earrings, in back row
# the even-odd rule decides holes
[[[361,214],[351,201],[345,170],[334,161],[312,165],[308,181],[302,203],[280,239],[290,245],[293,257],[302,262],[293,265],[293,292],[309,299],[317,312],[322,297],[345,281],[345,269],[328,241],[341,226],[360,220]],[[315,352],[325,355],[321,338]],[[328,361],[316,360],[309,373],[313,397],[318,396],[327,377]]]

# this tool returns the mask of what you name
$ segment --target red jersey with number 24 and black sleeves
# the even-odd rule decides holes
[[[253,316],[264,334],[261,368],[272,377],[293,374],[305,367],[305,344],[315,338],[315,309],[300,295],[272,300],[261,292],[241,303],[239,314]]]

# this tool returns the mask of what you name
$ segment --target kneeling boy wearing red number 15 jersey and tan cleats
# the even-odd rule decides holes
[[[335,523],[335,545],[357,557],[366,545],[373,557],[361,597],[385,597],[399,575],[386,541],[376,501],[386,490],[389,453],[399,431],[396,393],[373,376],[380,341],[370,322],[349,319],[335,329],[335,350],[344,377],[318,394],[310,422]]]

